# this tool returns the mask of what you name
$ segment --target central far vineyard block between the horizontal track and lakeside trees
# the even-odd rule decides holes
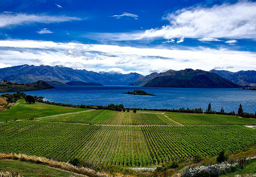
[[[176,125],[162,114],[127,113],[110,110],[95,110],[77,114],[60,115],[40,119],[54,122],[95,123],[97,125]]]

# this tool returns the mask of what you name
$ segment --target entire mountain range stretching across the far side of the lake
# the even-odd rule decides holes
[[[20,65],[0,69],[0,80],[28,83],[44,80],[52,86],[67,86],[67,82],[99,83],[103,85],[130,85],[146,87],[248,87],[256,86],[256,71],[230,72],[225,70],[168,70],[143,76],[77,70],[61,65]]]

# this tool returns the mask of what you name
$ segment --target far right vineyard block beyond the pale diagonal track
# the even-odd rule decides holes
[[[232,115],[166,113],[171,119],[183,125],[256,125],[254,118],[240,118]]]

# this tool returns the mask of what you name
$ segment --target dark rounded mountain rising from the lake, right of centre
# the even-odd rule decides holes
[[[240,86],[215,73],[185,69],[164,72],[144,84],[144,87],[236,88]]]

